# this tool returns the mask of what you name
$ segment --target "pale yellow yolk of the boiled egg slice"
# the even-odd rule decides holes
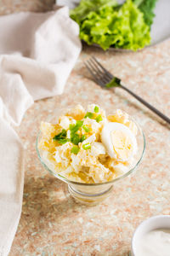
[[[133,142],[123,131],[111,131],[111,143],[117,159],[127,160],[133,154]]]

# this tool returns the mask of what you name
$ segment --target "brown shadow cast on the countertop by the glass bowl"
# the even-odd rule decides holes
[[[55,177],[26,177],[20,222],[32,223],[36,230],[44,230],[48,223],[59,224],[72,218],[86,206],[78,204],[68,192],[67,184]]]

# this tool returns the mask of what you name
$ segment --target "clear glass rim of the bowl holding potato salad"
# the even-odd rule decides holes
[[[131,117],[131,119],[133,120],[132,117]],[[142,135],[142,137],[143,137],[143,145],[144,145],[144,147],[143,147],[143,149],[142,149],[142,153],[141,153],[141,155],[140,155],[140,157],[139,157],[139,160],[137,161],[137,163],[135,164],[135,166],[133,166],[133,168],[131,168],[128,172],[124,173],[123,175],[114,178],[114,179],[111,180],[111,181],[108,181],[108,182],[105,182],[105,183],[79,183],[79,182],[76,182],[76,181],[71,181],[71,180],[67,179],[66,177],[60,175],[59,173],[54,173],[54,172],[53,172],[52,170],[50,170],[50,169],[48,168],[48,166],[43,162],[42,157],[41,157],[41,154],[40,154],[40,152],[39,152],[39,150],[38,150],[38,146],[37,146],[37,145],[38,145],[38,139],[39,139],[39,137],[40,137],[41,131],[38,132],[38,134],[37,134],[37,140],[36,140],[36,149],[37,149],[38,158],[39,158],[40,162],[42,163],[42,166],[44,166],[45,169],[48,170],[49,173],[51,173],[54,177],[58,177],[60,180],[64,181],[65,183],[70,183],[70,184],[73,184],[73,185],[80,185],[80,186],[82,186],[82,185],[83,185],[83,186],[90,186],[90,187],[91,187],[91,186],[92,186],[92,187],[93,187],[93,186],[102,186],[102,185],[106,185],[106,184],[116,183],[116,181],[119,181],[119,180],[121,180],[123,177],[127,177],[128,175],[130,175],[130,174],[137,168],[137,166],[139,166],[139,163],[141,162],[141,160],[142,160],[143,157],[144,157],[145,146],[146,146],[145,137],[144,137],[144,132],[142,131],[140,125],[139,125],[136,121],[133,120],[133,122],[135,123],[135,125],[137,125],[137,127],[138,127],[138,129],[139,129],[139,131],[140,131],[140,133],[141,133],[141,135]]]

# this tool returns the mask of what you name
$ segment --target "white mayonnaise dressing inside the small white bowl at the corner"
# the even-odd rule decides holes
[[[146,233],[136,244],[135,256],[170,256],[170,229]]]

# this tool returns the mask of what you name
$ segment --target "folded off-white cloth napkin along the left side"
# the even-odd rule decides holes
[[[67,7],[0,17],[0,255],[8,255],[20,220],[24,150],[12,128],[27,108],[59,95],[81,50]],[[12,125],[12,126],[11,126]]]

